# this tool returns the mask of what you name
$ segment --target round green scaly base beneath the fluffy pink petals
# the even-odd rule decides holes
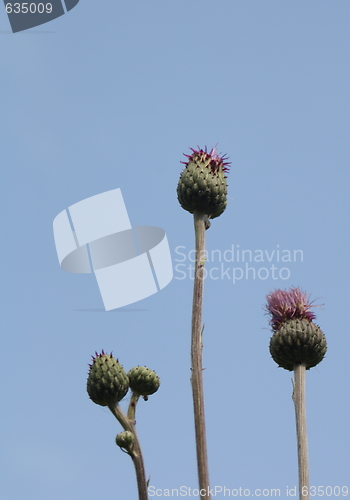
[[[285,321],[274,331],[270,340],[272,358],[289,371],[302,363],[309,370],[322,361],[326,351],[324,333],[319,326],[307,319]]]

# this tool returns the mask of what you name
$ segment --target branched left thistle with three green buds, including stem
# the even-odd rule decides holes
[[[124,431],[116,436],[116,444],[127,453],[135,467],[139,500],[147,500],[147,481],[139,439],[135,429],[136,405],[140,396],[147,401],[159,386],[158,375],[146,367],[132,368],[127,374],[123,366],[112,354],[95,353],[92,356],[87,380],[87,392],[90,399],[100,405],[108,406],[122,425]],[[119,406],[129,388],[132,391],[127,414]]]

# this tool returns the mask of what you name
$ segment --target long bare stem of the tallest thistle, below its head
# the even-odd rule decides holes
[[[205,263],[205,228],[207,219],[207,216],[203,214],[194,214],[194,229],[196,235],[196,264],[192,305],[191,383],[193,393],[199,488],[201,491],[206,492],[205,495],[201,496],[201,498],[210,500],[202,376],[202,304]]]

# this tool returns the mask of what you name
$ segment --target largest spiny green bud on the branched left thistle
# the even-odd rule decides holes
[[[123,399],[129,389],[128,376],[112,354],[96,354],[87,380],[90,399],[101,406],[108,406]]]

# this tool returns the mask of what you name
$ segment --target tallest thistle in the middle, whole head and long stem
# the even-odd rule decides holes
[[[210,227],[210,219],[219,217],[226,208],[226,173],[229,163],[225,156],[217,153],[216,148],[210,152],[207,152],[206,148],[191,148],[191,151],[192,154],[185,155],[187,161],[182,162],[185,168],[178,182],[177,197],[182,208],[194,217],[196,261],[192,304],[191,385],[199,487],[201,491],[206,492],[202,498],[210,500],[202,376],[205,230]]]

